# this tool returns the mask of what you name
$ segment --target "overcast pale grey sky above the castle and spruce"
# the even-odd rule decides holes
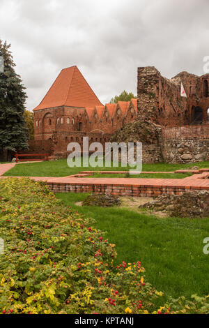
[[[208,13],[208,0],[0,0],[0,38],[12,44],[27,109],[73,65],[108,103],[137,94],[139,66],[203,75]]]

